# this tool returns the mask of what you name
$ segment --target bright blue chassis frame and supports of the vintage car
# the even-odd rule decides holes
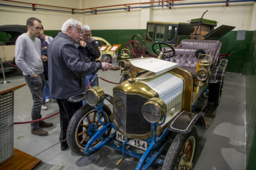
[[[202,92],[200,97],[202,97],[204,92],[207,92],[207,94],[208,94],[207,88],[205,88],[205,90]],[[200,97],[198,97],[197,100],[199,100]],[[197,102],[195,102],[195,104],[196,103]],[[95,109],[97,109],[97,113],[98,113],[99,123],[102,123],[103,127],[100,130],[98,130],[97,125],[91,124],[92,127],[90,127],[90,129],[91,129],[91,133],[93,134],[93,136],[88,141],[87,145],[85,146],[83,153],[85,155],[90,155],[90,154],[96,152],[97,150],[100,150],[100,148],[102,148],[104,146],[108,146],[108,147],[114,148],[115,150],[117,150],[119,152],[122,152],[122,158],[124,158],[124,154],[126,154],[126,155],[130,155],[130,156],[133,156],[134,158],[139,159],[140,161],[137,165],[136,170],[148,169],[148,168],[150,168],[150,166],[152,164],[154,164],[156,166],[163,166],[165,156],[161,155],[161,153],[163,152],[163,149],[167,144],[166,141],[168,140],[170,131],[168,128],[166,128],[160,137],[156,137],[156,126],[160,126],[161,124],[163,124],[166,119],[166,116],[164,116],[164,119],[161,124],[151,123],[153,125],[153,127],[152,127],[153,137],[145,140],[150,145],[148,146],[147,150],[145,150],[145,152],[143,154],[140,154],[140,153],[134,152],[132,150],[126,149],[126,143],[129,142],[131,139],[126,139],[126,141],[122,142],[122,147],[114,144],[114,141],[118,141],[118,140],[116,140],[116,132],[114,132],[113,134],[109,135],[106,138],[102,137],[103,134],[105,134],[105,132],[111,128],[113,128],[115,131],[117,131],[114,124],[108,122],[106,114],[102,109],[103,104],[104,104],[104,99],[102,100],[102,104],[95,106]],[[192,112],[194,112],[195,104],[192,106]],[[106,124],[104,122],[101,122],[100,113],[103,114],[103,116],[107,122]],[[93,143],[99,138],[101,140],[100,144],[96,145],[95,147],[92,147]]]

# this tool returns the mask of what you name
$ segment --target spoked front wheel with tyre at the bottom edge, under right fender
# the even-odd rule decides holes
[[[164,160],[163,169],[189,170],[197,150],[197,129],[187,134],[177,134]]]

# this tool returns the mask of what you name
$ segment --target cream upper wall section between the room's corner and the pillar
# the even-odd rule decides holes
[[[149,1],[149,0],[148,0]],[[138,3],[138,0],[85,0],[84,8],[113,6],[117,4]],[[138,5],[137,5],[138,6]],[[139,5],[140,6],[140,5]],[[124,6],[102,8],[97,10],[124,8]],[[97,12],[97,14],[85,14],[85,23],[90,25],[93,30],[130,30],[140,29],[140,9],[111,10],[105,12]]]

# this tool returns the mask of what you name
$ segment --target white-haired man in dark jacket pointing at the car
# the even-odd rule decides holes
[[[51,97],[59,105],[61,123],[61,150],[69,149],[66,133],[69,121],[82,102],[72,103],[67,99],[73,95],[85,92],[84,78],[86,74],[96,70],[108,70],[109,63],[90,62],[83,56],[77,44],[81,34],[82,24],[74,19],[67,20],[60,33],[51,41],[48,47],[48,79]]]

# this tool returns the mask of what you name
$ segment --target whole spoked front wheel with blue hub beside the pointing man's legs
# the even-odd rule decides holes
[[[107,105],[103,105],[103,110],[106,113],[107,119],[111,115],[111,110]],[[103,114],[100,115],[101,122],[107,122]],[[97,125],[98,129],[103,127],[103,124],[98,121],[98,114],[95,108],[90,105],[84,105],[70,120],[69,127],[67,128],[67,144],[69,144],[70,149],[77,155],[84,155],[81,150],[84,150],[87,142],[92,138],[95,131],[93,127]],[[103,134],[103,139],[108,137],[111,132],[111,129]],[[93,147],[100,144],[100,138],[93,143]]]

